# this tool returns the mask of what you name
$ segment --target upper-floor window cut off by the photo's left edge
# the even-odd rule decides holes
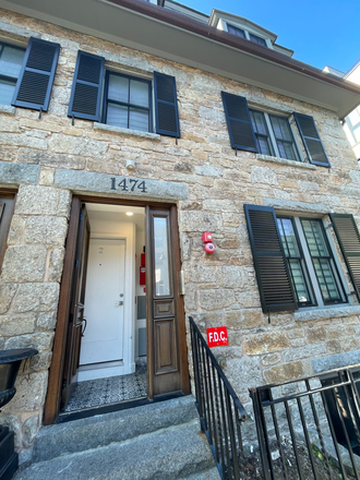
[[[0,41],[0,104],[11,105],[25,48]]]

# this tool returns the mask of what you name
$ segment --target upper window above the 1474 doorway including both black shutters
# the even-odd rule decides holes
[[[153,132],[152,104],[156,133],[180,137],[173,76],[154,72],[151,82],[108,71],[104,57],[82,50],[77,52],[69,117],[101,121],[119,129]]]

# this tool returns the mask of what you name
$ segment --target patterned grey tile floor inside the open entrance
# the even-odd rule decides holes
[[[129,375],[79,382],[64,411],[146,397],[146,364],[136,364],[135,373]]]

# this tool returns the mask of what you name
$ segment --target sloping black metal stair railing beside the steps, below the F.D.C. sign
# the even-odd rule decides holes
[[[241,423],[247,413],[200,329],[190,316],[196,408],[224,480],[244,479]]]

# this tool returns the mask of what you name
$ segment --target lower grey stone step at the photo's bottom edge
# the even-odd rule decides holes
[[[214,472],[212,453],[195,419],[34,464],[19,471],[14,480],[218,479]]]

